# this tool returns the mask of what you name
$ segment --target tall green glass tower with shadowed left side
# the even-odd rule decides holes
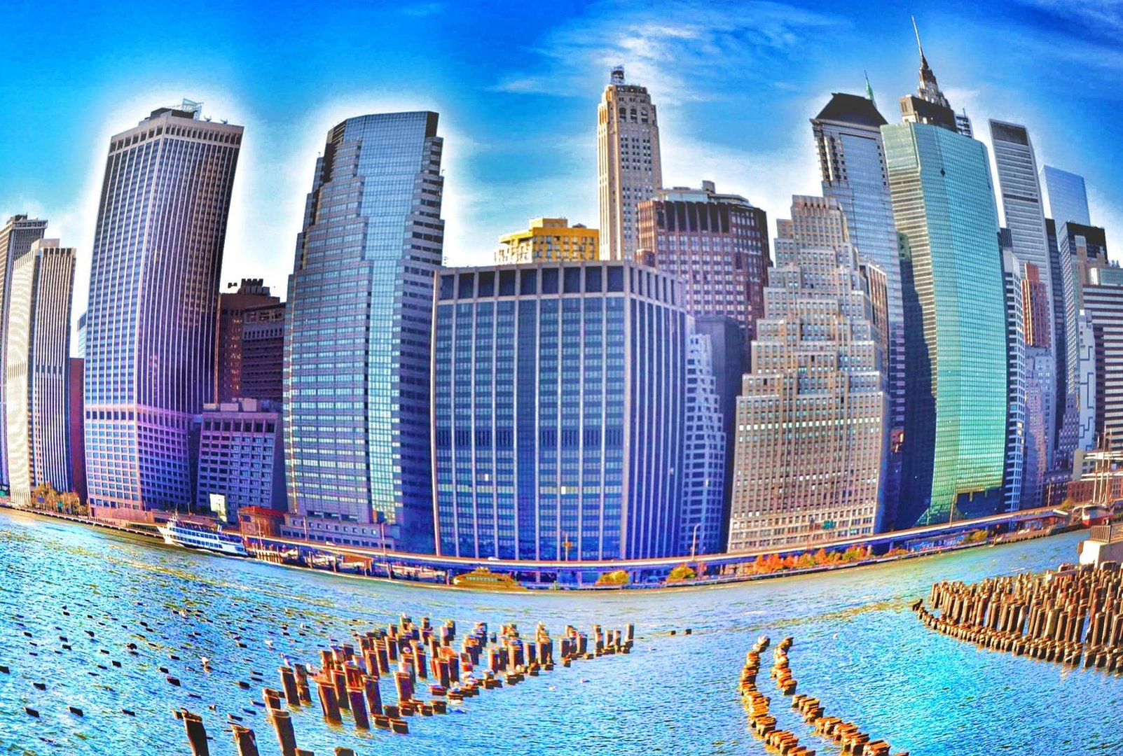
[[[937,122],[882,127],[907,266],[907,452],[898,527],[999,511],[1006,344],[986,147]]]

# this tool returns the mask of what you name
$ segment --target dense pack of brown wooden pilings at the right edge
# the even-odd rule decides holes
[[[913,610],[926,627],[1019,656],[1123,672],[1123,572],[1062,564],[1041,574],[942,581]],[[934,614],[940,612],[940,614]]]

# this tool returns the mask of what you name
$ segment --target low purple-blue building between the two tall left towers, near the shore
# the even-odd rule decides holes
[[[195,508],[238,522],[243,507],[285,507],[281,412],[273,402],[239,398],[203,405],[199,417]]]

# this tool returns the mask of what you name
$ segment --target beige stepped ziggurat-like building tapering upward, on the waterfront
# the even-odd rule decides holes
[[[765,317],[737,399],[729,551],[876,532],[886,397],[877,334],[836,200],[777,222]]]

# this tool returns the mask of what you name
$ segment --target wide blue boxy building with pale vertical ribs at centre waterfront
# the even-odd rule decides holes
[[[688,348],[678,282],[627,261],[453,268],[433,307],[438,553],[675,553]]]

